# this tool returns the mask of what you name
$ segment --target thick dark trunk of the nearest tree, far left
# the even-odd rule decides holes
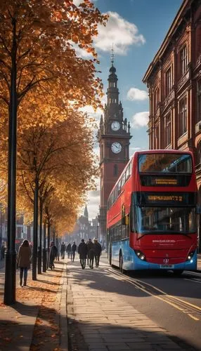
[[[4,303],[15,303],[16,288],[16,252],[15,252],[15,216],[16,216],[16,150],[17,150],[17,41],[16,20],[12,19],[13,43],[11,48],[11,91],[9,103],[9,126],[8,126],[8,234],[6,250],[6,268],[4,285]]]

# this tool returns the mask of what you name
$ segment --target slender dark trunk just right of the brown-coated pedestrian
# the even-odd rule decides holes
[[[39,180],[35,180],[34,189],[34,230],[32,254],[32,279],[37,280],[37,250],[38,250],[38,212],[39,212]]]

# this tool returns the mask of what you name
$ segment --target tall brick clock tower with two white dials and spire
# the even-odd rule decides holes
[[[122,103],[119,101],[116,68],[110,67],[107,103],[104,116],[100,117],[98,143],[100,147],[100,239],[106,240],[107,201],[112,187],[129,161],[130,124],[124,119]]]

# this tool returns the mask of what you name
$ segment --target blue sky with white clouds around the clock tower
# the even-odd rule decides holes
[[[92,0],[91,0],[92,1]],[[93,0],[101,13],[108,13],[106,27],[99,27],[94,39],[100,65],[98,75],[103,80],[104,91],[108,88],[108,74],[111,66],[112,44],[115,52],[114,66],[117,69],[119,100],[124,108],[124,118],[131,123],[130,156],[135,150],[148,150],[147,123],[149,116],[148,90],[143,84],[143,76],[160,48],[168,29],[183,0]],[[79,5],[80,0],[74,0]],[[82,57],[87,57],[83,51]],[[103,98],[103,102],[106,102]],[[98,110],[90,106],[86,112],[100,120]],[[94,152],[99,154],[98,145]],[[87,207],[89,218],[95,218],[100,204],[98,190],[89,192]],[[83,209],[84,211],[84,209]]]

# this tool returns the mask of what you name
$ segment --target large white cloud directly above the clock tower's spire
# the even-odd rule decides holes
[[[115,53],[126,55],[129,46],[145,44],[143,34],[138,33],[134,23],[124,20],[116,12],[108,12],[107,25],[98,25],[98,37],[94,38],[96,48],[103,51],[111,51],[113,43]]]

